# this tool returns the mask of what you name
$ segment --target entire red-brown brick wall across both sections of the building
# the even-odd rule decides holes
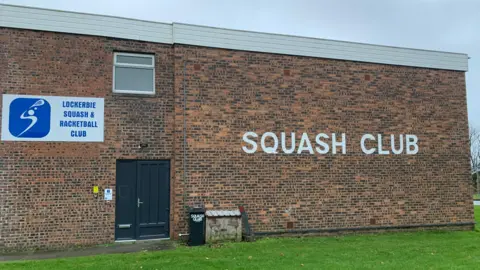
[[[155,96],[112,93],[114,51],[155,53]],[[473,221],[463,72],[0,29],[0,93],[105,98],[104,143],[0,142],[0,249],[112,242],[91,190],[127,158],[172,161],[174,238],[196,204],[256,231]],[[247,131],[346,133],[347,154],[246,154]],[[364,133],[420,152],[365,155]]]

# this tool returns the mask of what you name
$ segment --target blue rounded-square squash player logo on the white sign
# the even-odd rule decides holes
[[[10,103],[8,130],[17,138],[43,138],[50,132],[50,104],[42,98],[16,98]]]

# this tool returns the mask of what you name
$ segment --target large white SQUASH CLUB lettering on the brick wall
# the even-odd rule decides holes
[[[245,153],[253,154],[257,152],[258,137],[258,134],[255,132],[246,132],[243,134],[243,141],[246,145],[242,146],[242,149]],[[418,153],[418,137],[416,135],[391,134],[389,136],[387,135],[387,137],[390,141],[384,145],[383,142],[385,139],[382,139],[381,134],[377,134],[377,136],[365,134],[359,142],[360,148],[362,149],[362,152],[367,155],[415,155]],[[330,143],[328,143],[329,140],[331,141]],[[273,132],[265,132],[260,137],[260,147],[262,148],[262,151],[267,154],[278,154],[280,151],[284,154],[308,153],[311,155],[315,153],[321,155],[327,153],[332,153],[333,155],[341,153],[345,155],[347,153],[347,135],[345,133],[340,135],[335,133],[330,135],[319,133],[315,136],[314,142],[316,144],[312,145],[312,141],[307,133],[302,134],[298,146],[296,144],[296,136],[294,132],[288,135],[285,132],[281,132],[280,140]]]

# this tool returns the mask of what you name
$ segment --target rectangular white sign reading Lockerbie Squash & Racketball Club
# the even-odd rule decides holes
[[[3,141],[103,142],[103,98],[3,95]]]

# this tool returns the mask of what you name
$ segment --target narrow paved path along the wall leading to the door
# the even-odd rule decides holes
[[[30,251],[19,253],[0,254],[0,261],[17,260],[43,260],[67,257],[93,256],[101,254],[132,253],[139,251],[153,251],[174,249],[174,244],[169,240],[137,241],[114,243],[111,245],[95,246],[89,248],[76,248],[63,251]]]

